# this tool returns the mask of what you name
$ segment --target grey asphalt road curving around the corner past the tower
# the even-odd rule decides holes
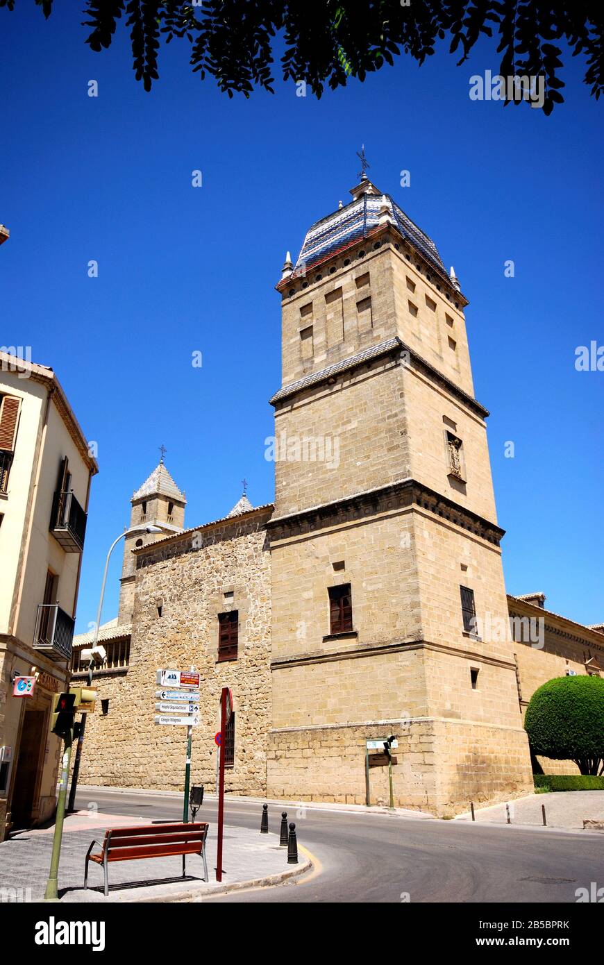
[[[95,801],[105,813],[180,818],[180,798],[123,791],[78,791],[76,806]],[[279,830],[281,807],[269,807]],[[206,799],[199,818],[216,820]],[[258,827],[261,804],[225,804],[227,824]],[[576,902],[575,890],[602,881],[604,835],[457,821],[414,820],[391,814],[317,811],[289,813],[298,841],[316,869],[291,884],[206,898],[220,902]],[[228,855],[225,869],[228,880]],[[407,897],[408,896],[408,897]]]

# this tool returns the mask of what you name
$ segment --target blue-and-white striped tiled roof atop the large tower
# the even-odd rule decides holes
[[[317,221],[306,233],[293,274],[300,274],[304,268],[308,269],[329,255],[343,251],[344,248],[366,237],[372,229],[377,228],[382,197],[381,194],[365,193],[351,201],[349,205]],[[407,217],[391,195],[387,194],[385,197],[392,206],[395,226],[400,234],[408,238],[439,273],[448,277],[445,265],[432,239]]]

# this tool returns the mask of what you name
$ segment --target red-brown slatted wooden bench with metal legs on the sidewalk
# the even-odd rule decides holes
[[[207,881],[206,837],[209,825],[206,821],[190,824],[149,824],[144,827],[112,828],[105,831],[104,840],[93,841],[86,853],[84,888],[88,888],[88,863],[102,865],[104,893],[109,894],[108,864],[112,861],[141,861],[143,858],[166,858],[182,855],[182,877],[186,873],[186,855],[199,854],[204,859],[204,881]],[[98,854],[91,854],[95,844]]]

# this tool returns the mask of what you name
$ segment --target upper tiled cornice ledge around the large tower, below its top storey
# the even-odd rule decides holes
[[[402,342],[402,340],[398,338],[398,335],[378,345],[372,345],[370,348],[364,349],[364,351],[358,352],[348,359],[343,359],[342,362],[327,366],[325,369],[321,369],[320,372],[311,372],[303,378],[291,382],[289,385],[284,385],[282,389],[279,389],[274,396],[272,396],[269,402],[278,409],[282,403],[293,399],[301,392],[324,386],[327,383],[336,382],[339,378],[354,372],[356,369],[362,367],[370,368],[374,360],[389,355],[397,361],[402,360],[402,364],[409,365],[417,369],[418,372],[422,372],[422,374],[432,382],[436,382],[442,389],[453,396],[454,399],[466,405],[475,415],[479,416],[480,419],[486,419],[488,417],[488,409],[485,409],[478,400],[469,396],[468,393],[460,389],[458,385],[455,385],[447,375],[439,372],[433,365],[426,362],[426,359],[419,355],[415,349]]]

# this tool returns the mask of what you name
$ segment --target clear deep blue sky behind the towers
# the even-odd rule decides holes
[[[550,118],[470,100],[469,77],[497,71],[488,43],[462,68],[444,51],[422,68],[402,57],[316,101],[279,79],[275,96],[229,100],[190,73],[175,41],[146,94],[122,32],[95,54],[71,5],[47,22],[17,7],[0,11],[0,222],[11,230],[0,343],[31,345],[55,369],[98,445],[78,631],[95,619],[106,550],[160,444],[186,489],[187,525],[230,510],[244,476],[255,505],[272,500],[274,285],[286,250],[295,258],[307,228],[349,198],[362,143],[371,178],[470,298],[508,592],[542,590],[558,613],[604,620],[604,372],[574,368],[578,345],[604,342],[601,106],[583,63],[568,58]],[[116,552],[103,620],[117,612],[120,565]]]

